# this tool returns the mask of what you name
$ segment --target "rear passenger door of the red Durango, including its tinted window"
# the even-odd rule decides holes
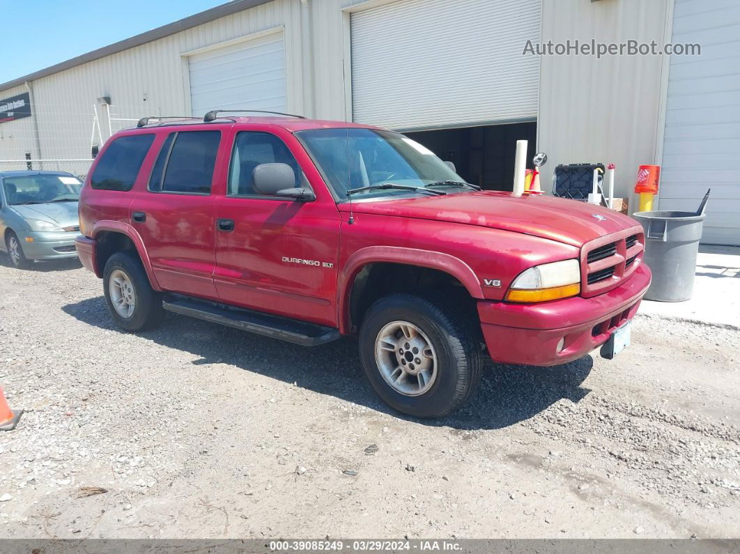
[[[158,142],[147,189],[131,204],[132,225],[161,288],[218,300],[212,184],[218,180],[221,131],[175,127]]]

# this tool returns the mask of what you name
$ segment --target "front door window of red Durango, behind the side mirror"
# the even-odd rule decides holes
[[[295,172],[295,186],[300,186],[302,172],[288,146],[268,132],[243,131],[236,135],[229,169],[229,196],[259,195],[255,191],[254,172],[260,163],[287,163]]]

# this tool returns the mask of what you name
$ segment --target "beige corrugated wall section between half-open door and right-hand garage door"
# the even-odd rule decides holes
[[[542,41],[670,41],[673,0],[543,0]],[[656,163],[667,63],[662,56],[543,56],[538,149],[558,163],[616,163],[628,196],[637,166]],[[542,183],[550,189],[550,183]]]

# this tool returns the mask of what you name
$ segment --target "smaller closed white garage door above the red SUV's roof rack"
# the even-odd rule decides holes
[[[192,115],[210,109],[286,110],[283,33],[189,56]]]

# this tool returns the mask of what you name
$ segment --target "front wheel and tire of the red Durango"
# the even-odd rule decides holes
[[[411,294],[377,300],[360,328],[360,357],[375,392],[416,417],[460,408],[482,373],[480,332],[460,308]]]

